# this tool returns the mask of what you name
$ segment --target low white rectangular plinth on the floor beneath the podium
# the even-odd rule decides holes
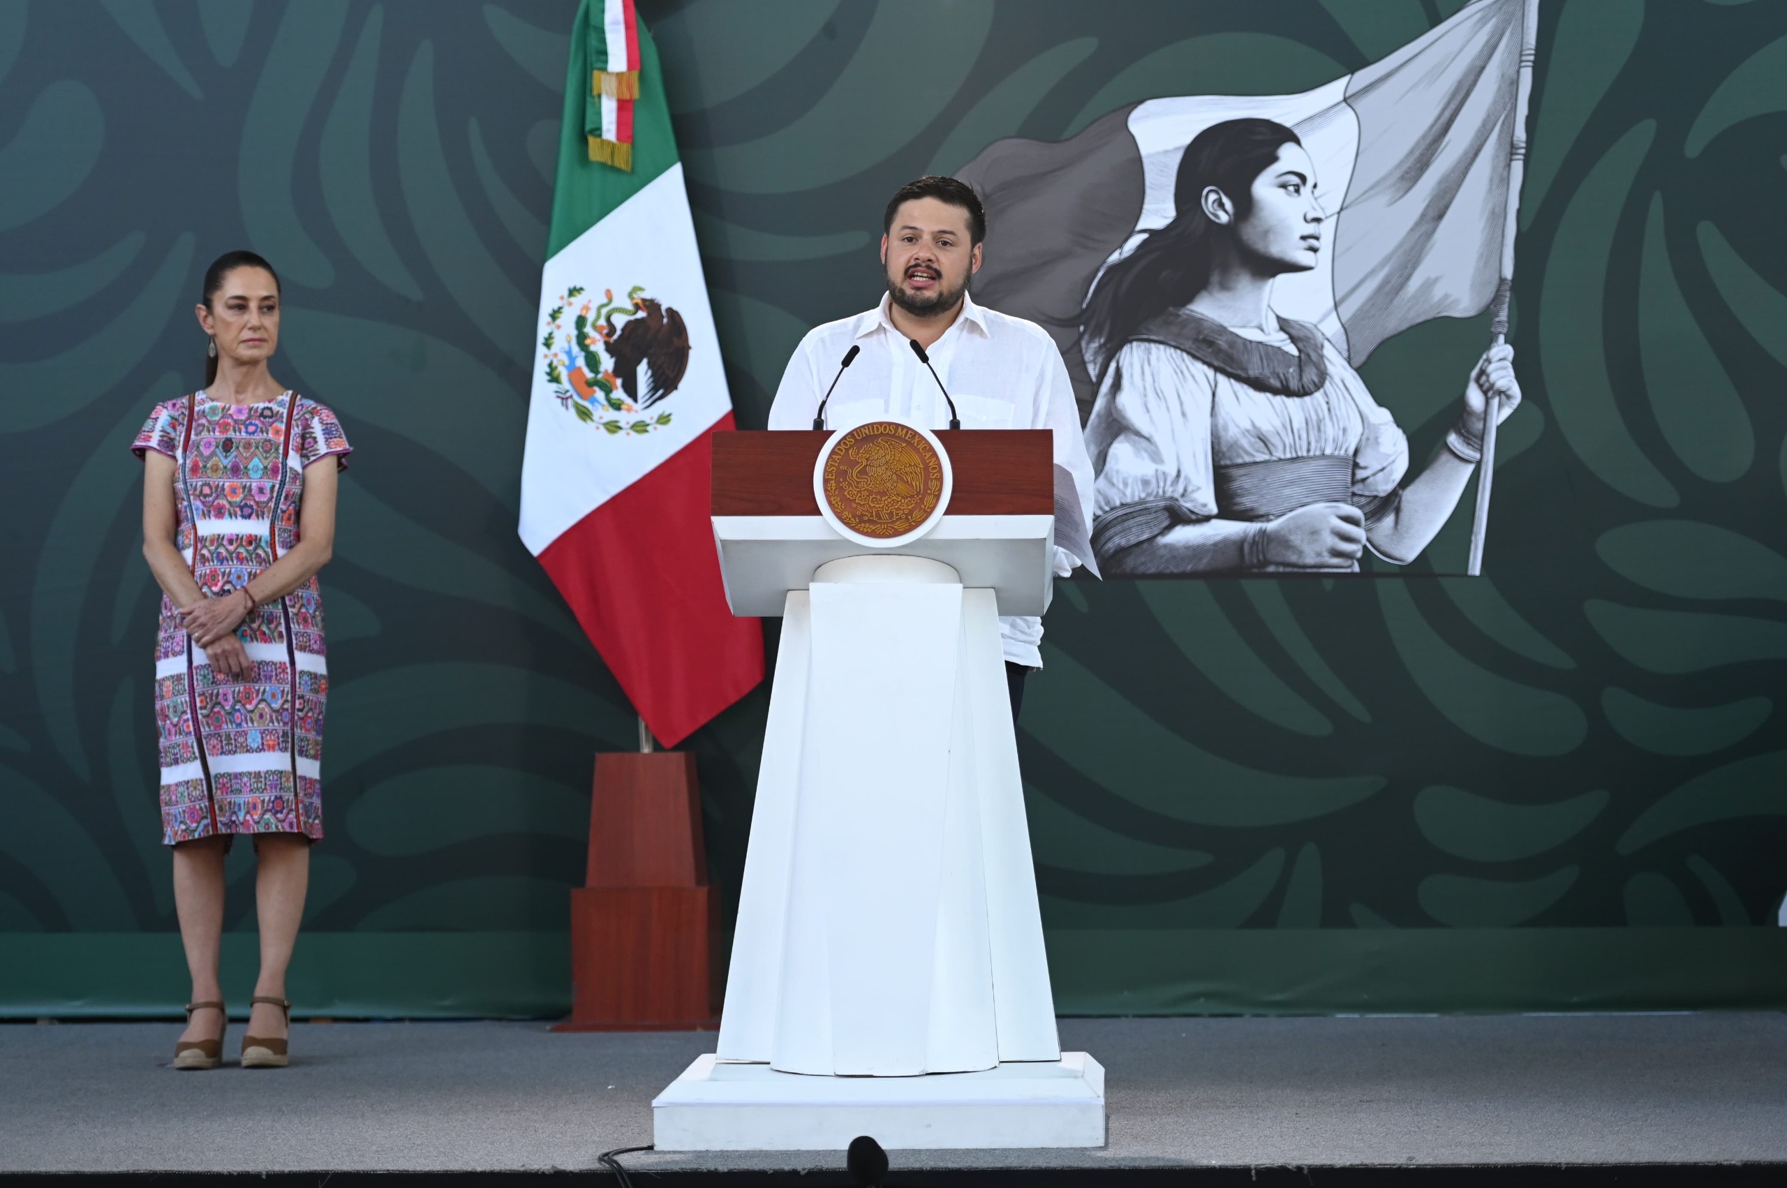
[[[652,1100],[658,1150],[1103,1147],[1104,1067],[1085,1052],[924,1077],[813,1077],[701,1056]]]

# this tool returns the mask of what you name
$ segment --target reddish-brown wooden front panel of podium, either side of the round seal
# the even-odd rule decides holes
[[[813,466],[824,429],[713,434],[715,516],[817,516]],[[954,472],[951,516],[1053,516],[1054,436],[1047,429],[940,429]]]

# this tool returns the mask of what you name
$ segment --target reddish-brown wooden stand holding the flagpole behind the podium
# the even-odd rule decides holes
[[[595,757],[590,866],[570,893],[570,1016],[552,1031],[711,1031],[718,918],[695,756]]]

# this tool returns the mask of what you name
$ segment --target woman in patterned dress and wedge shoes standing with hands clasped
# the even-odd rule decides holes
[[[143,554],[161,584],[155,722],[161,825],[193,1000],[175,1068],[216,1068],[223,854],[254,834],[261,975],[243,1068],[286,1065],[286,965],[304,918],[309,847],[323,836],[323,607],[336,470],[350,447],[327,407],[279,384],[279,277],[254,252],[206,270],[206,388],[155,407],[145,461]]]

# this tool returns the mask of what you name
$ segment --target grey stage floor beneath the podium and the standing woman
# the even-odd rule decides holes
[[[595,1168],[713,1034],[300,1024],[293,1065],[168,1068],[172,1024],[0,1025],[0,1172]],[[231,1043],[241,1025],[231,1027]],[[919,1168],[1787,1161],[1787,1015],[1069,1018],[1108,1070],[1101,1150]],[[842,1152],[633,1154],[840,1170]]]

